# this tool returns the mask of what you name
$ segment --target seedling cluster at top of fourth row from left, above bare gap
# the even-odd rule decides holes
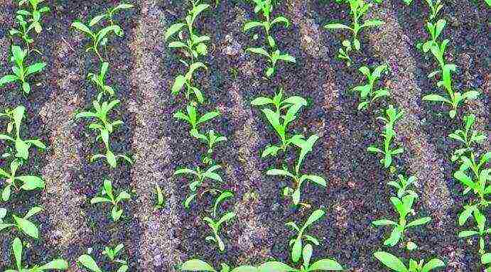
[[[293,56],[288,53],[281,53],[278,49],[276,41],[274,40],[271,31],[275,25],[281,25],[282,23],[288,27],[290,22],[284,16],[276,16],[272,18],[272,12],[274,10],[274,0],[252,0],[254,3],[254,13],[261,14],[261,18],[258,21],[249,21],[244,24],[244,32],[249,31],[253,28],[264,29],[266,34],[266,49],[264,47],[257,48],[247,48],[247,52],[251,52],[258,55],[263,55],[267,58],[269,62],[269,67],[266,68],[266,77],[271,77],[276,72],[276,62],[279,60],[286,62],[296,62]],[[259,34],[254,34],[254,40],[259,37]]]

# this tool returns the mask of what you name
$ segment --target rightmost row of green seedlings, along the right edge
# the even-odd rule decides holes
[[[447,21],[443,18],[438,19],[438,15],[443,8],[443,3],[439,0],[434,2],[426,0],[426,4],[430,11],[426,22],[428,40],[419,43],[417,47],[423,53],[431,52],[434,60],[436,60],[438,68],[431,72],[428,78],[435,78],[437,80],[437,87],[441,88],[444,93],[443,95],[427,94],[423,97],[423,100],[446,104],[449,109],[448,114],[450,119],[453,119],[457,115],[458,106],[467,100],[477,99],[480,92],[477,92],[477,90],[458,92],[453,89],[452,73],[457,71],[457,66],[446,61],[445,53],[450,40],[441,40],[441,35]],[[458,170],[453,173],[453,178],[463,185],[463,195],[473,192],[473,196],[469,197],[468,202],[459,214],[458,224],[460,227],[463,227],[471,221],[470,224],[475,225],[474,227],[460,231],[458,236],[460,238],[478,237],[477,244],[479,247],[480,261],[483,266],[487,266],[487,270],[489,271],[491,269],[491,253],[485,249],[485,239],[486,236],[491,234],[491,228],[486,227],[486,214],[489,214],[491,204],[491,169],[489,168],[491,152],[477,150],[477,144],[485,141],[487,137],[479,131],[471,130],[475,122],[474,114],[464,116],[463,122],[463,129],[457,129],[449,135],[450,138],[459,141],[463,145],[453,152],[450,161],[460,164]]]

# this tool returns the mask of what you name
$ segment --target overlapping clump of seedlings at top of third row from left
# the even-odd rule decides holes
[[[183,59],[180,60],[180,62],[183,62],[183,64],[188,67],[188,72],[186,72],[185,75],[178,75],[176,77],[176,80],[174,80],[174,84],[172,87],[172,94],[176,95],[178,94],[183,87],[185,87],[185,96],[187,99],[189,99],[190,94],[195,94],[196,99],[198,99],[198,102],[203,103],[204,98],[203,98],[203,93],[201,92],[200,89],[197,87],[193,86],[193,73],[195,70],[198,68],[203,68],[207,69],[206,65],[203,64],[203,62],[196,62],[195,59],[197,59],[200,55],[205,56],[208,53],[207,50],[207,45],[206,43],[210,41],[210,37],[203,35],[200,36],[198,33],[196,33],[195,29],[193,28],[193,25],[195,23],[196,18],[198,15],[205,11],[205,9],[208,9],[210,5],[208,4],[200,4],[201,0],[190,0],[191,7],[190,10],[188,11],[188,16],[185,17],[185,23],[175,23],[172,26],[170,26],[165,34],[166,40],[174,36],[176,33],[178,33],[178,39],[174,40],[173,42],[169,43],[169,48],[176,48],[179,50],[183,50],[185,52],[185,55],[190,58],[190,62],[187,62]],[[188,37],[187,40],[184,40],[183,38],[183,28],[187,27],[188,30]]]

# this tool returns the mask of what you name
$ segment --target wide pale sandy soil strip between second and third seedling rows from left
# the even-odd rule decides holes
[[[175,231],[180,228],[178,200],[171,180],[168,138],[159,136],[166,128],[161,97],[167,93],[167,82],[162,77],[161,52],[164,50],[163,33],[166,29],[165,15],[156,1],[139,1],[141,18],[134,30],[134,42],[130,48],[136,58],[136,67],[131,82],[137,88],[141,101],[135,101],[129,110],[136,114],[134,132],[134,166],[132,187],[135,188],[136,214],[143,234],[138,251],[139,265],[143,271],[175,271],[181,261],[181,252],[176,248],[179,241]],[[165,95],[165,94],[163,94]],[[162,172],[163,171],[163,172]],[[167,195],[166,207],[158,212],[152,205],[155,201],[155,184],[158,183]]]

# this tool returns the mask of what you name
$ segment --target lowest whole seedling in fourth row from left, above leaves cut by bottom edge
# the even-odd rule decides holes
[[[308,217],[307,221],[305,224],[303,224],[303,227],[299,228],[295,222],[288,222],[286,223],[286,226],[291,227],[293,230],[297,232],[296,237],[290,240],[290,246],[291,246],[291,261],[293,263],[298,263],[300,260],[300,257],[302,255],[302,249],[303,249],[303,243],[302,240],[305,239],[306,241],[311,242],[312,244],[315,244],[318,246],[319,240],[315,238],[314,236],[311,236],[309,234],[304,234],[306,229],[311,226],[311,224],[315,223],[315,221],[318,221],[321,217],[323,217],[325,212],[323,210],[315,210],[310,217]]]

